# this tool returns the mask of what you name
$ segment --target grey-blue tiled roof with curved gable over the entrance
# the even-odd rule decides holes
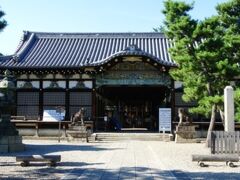
[[[165,66],[176,66],[161,33],[24,32],[23,40],[2,68],[76,68],[97,66],[118,57],[141,55]]]

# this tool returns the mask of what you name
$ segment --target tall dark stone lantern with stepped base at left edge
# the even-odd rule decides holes
[[[15,107],[16,88],[13,80],[13,76],[6,70],[0,81],[0,153],[24,150],[22,137],[10,121]]]

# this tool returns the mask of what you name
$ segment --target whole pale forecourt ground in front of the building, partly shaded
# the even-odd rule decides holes
[[[27,151],[0,154],[0,179],[240,179],[240,163],[201,168],[191,154],[208,154],[204,144],[159,141],[61,142],[25,140]],[[21,167],[19,154],[59,154],[55,168],[44,163]]]

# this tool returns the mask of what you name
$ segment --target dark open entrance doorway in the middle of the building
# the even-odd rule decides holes
[[[108,129],[157,130],[159,107],[169,107],[169,89],[165,86],[102,86],[103,113],[115,122]]]

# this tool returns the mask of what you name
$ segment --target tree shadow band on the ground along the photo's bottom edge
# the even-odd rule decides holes
[[[71,166],[71,163],[65,164]],[[21,178],[18,176],[8,175],[0,177],[0,179],[239,179],[240,173],[224,173],[224,172],[186,172],[180,170],[162,171],[159,169],[149,169],[146,167],[122,167],[118,170],[112,169],[99,169],[88,168],[87,163],[73,163],[73,166],[77,166],[74,169],[63,169],[62,167],[50,168],[44,167],[38,170],[30,170],[27,167],[23,171],[16,173],[21,174]],[[62,164],[61,166],[64,166]],[[15,174],[16,174],[15,173]]]

